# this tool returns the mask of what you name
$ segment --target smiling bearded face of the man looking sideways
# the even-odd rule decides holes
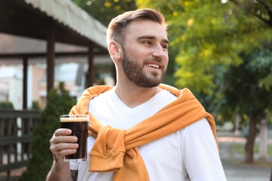
[[[169,42],[163,26],[137,21],[128,26],[123,45],[122,66],[128,79],[145,88],[158,86],[168,65]]]

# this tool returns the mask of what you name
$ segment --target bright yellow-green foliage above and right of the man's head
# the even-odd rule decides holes
[[[166,15],[171,26],[171,47],[179,49],[176,85],[186,86],[195,93],[213,94],[218,86],[215,84],[218,73],[223,74],[229,65],[242,63],[240,52],[262,49],[264,40],[272,38],[271,26],[251,13],[255,10],[259,17],[269,18],[260,1],[252,4],[248,1],[138,0],[137,3],[140,8],[157,8]]]

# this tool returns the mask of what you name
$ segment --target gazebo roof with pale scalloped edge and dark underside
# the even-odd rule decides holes
[[[47,40],[54,24],[56,42],[93,47],[107,53],[107,27],[70,0],[2,0],[0,32]]]

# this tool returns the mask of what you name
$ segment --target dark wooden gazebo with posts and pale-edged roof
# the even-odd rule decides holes
[[[93,84],[93,56],[107,54],[107,27],[70,0],[1,0],[0,32],[47,42],[45,52],[0,52],[0,58],[22,58],[24,65],[23,109],[27,108],[27,67],[29,58],[46,57],[47,95],[54,87],[56,56],[88,56],[87,86]],[[1,40],[0,40],[1,41]],[[88,47],[86,52],[55,52],[55,42]]]

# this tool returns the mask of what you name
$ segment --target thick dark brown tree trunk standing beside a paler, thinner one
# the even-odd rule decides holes
[[[248,139],[245,143],[245,163],[252,164],[254,162],[254,144],[257,134],[257,112],[250,113],[250,127],[248,131]]]

